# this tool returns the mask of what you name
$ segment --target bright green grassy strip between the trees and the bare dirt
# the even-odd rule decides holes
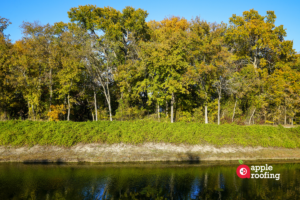
[[[217,146],[300,147],[300,127],[158,122],[0,122],[0,145],[165,142]]]

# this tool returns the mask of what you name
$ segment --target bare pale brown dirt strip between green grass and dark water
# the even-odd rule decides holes
[[[0,162],[139,162],[300,159],[300,149],[214,147],[165,143],[78,144],[73,147],[0,146]]]

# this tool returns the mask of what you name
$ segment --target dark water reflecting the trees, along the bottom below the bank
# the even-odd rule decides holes
[[[279,180],[241,179],[238,162],[7,163],[0,164],[0,199],[300,199],[300,164],[266,163]]]

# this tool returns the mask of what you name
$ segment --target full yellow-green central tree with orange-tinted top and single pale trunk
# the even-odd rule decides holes
[[[171,100],[171,123],[174,122],[176,93],[188,92],[186,73],[188,62],[189,23],[184,18],[171,17],[149,23],[151,43],[142,44],[141,66],[147,77],[139,83],[140,91],[150,93],[158,104],[163,98]]]

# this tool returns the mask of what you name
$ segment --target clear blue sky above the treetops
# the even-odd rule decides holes
[[[269,10],[277,16],[275,25],[287,29],[286,40],[294,41],[294,49],[300,52],[300,8],[299,0],[11,0],[0,3],[0,17],[8,18],[12,24],[5,31],[12,42],[22,38],[20,25],[23,21],[39,21],[41,24],[69,22],[68,11],[79,5],[110,6],[122,10],[126,6],[141,8],[149,13],[147,21],[162,20],[169,16],[179,16],[190,20],[200,16],[208,22],[229,22],[232,14],[242,15],[243,11],[255,9],[260,15]]]

